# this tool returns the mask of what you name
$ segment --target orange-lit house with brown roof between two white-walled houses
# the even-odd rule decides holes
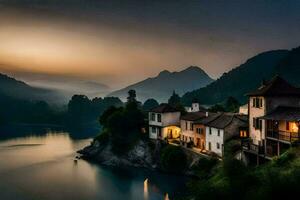
[[[204,127],[195,124],[196,121],[208,117],[208,112],[190,112],[180,118],[180,141],[184,146],[195,147],[199,150],[205,148]]]

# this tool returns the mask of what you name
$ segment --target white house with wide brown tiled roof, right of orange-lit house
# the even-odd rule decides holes
[[[234,137],[239,138],[241,134],[247,135],[248,116],[237,113],[218,113],[199,120],[196,124],[205,127],[205,150],[223,157],[224,145],[228,140]]]

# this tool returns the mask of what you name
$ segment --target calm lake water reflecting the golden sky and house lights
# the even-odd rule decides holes
[[[182,177],[113,170],[84,160],[75,164],[76,150],[90,141],[50,131],[0,140],[0,199],[156,200],[182,191]]]

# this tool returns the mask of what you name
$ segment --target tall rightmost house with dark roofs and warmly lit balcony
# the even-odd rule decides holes
[[[271,158],[299,141],[300,89],[279,76],[264,82],[249,96],[250,141],[245,153]]]

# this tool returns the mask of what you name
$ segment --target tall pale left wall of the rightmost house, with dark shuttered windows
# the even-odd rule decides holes
[[[266,99],[264,97],[259,97],[262,99],[262,107],[261,108],[255,108],[253,107],[253,98],[256,97],[250,97],[249,98],[249,136],[253,140],[253,143],[258,145],[262,142],[263,139],[265,139],[265,127],[266,123],[265,120],[262,120],[262,130],[255,129],[253,127],[253,118],[262,117],[266,114]]]

